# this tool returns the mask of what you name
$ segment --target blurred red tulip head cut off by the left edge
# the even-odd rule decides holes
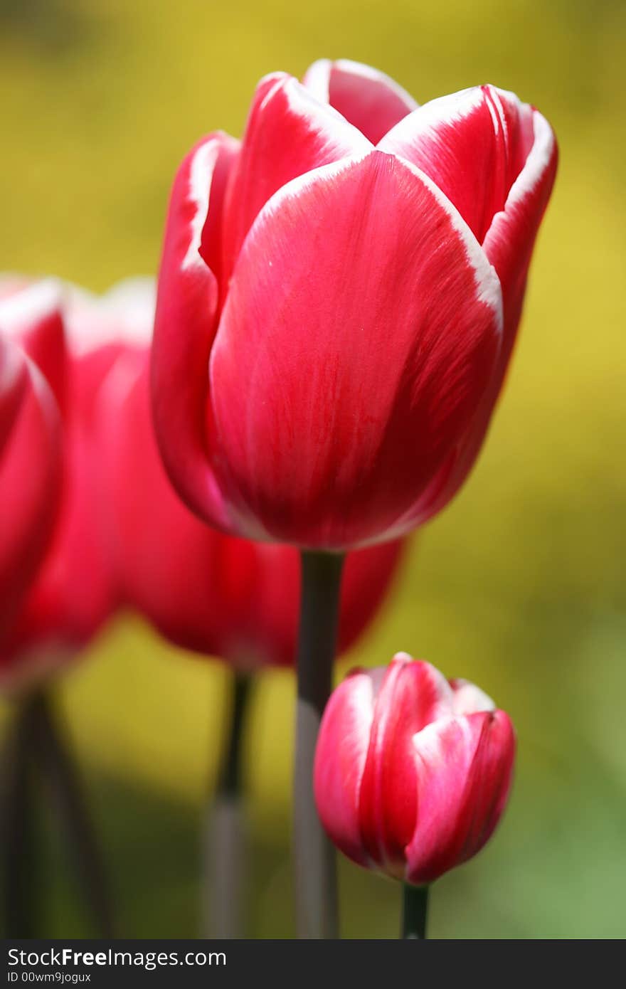
[[[60,396],[62,366],[54,285],[0,298],[0,640],[42,564],[55,524],[60,416],[44,374]]]

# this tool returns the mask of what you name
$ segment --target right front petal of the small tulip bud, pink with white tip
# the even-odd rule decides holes
[[[506,803],[515,754],[503,711],[442,718],[413,739],[417,824],[404,878],[432,882],[479,852]]]

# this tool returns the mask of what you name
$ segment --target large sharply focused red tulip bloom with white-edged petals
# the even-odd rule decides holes
[[[417,108],[352,62],[262,79],[242,142],[203,138],[172,190],[152,392],[185,500],[334,550],[438,511],[487,431],[556,164],[493,86]]]

